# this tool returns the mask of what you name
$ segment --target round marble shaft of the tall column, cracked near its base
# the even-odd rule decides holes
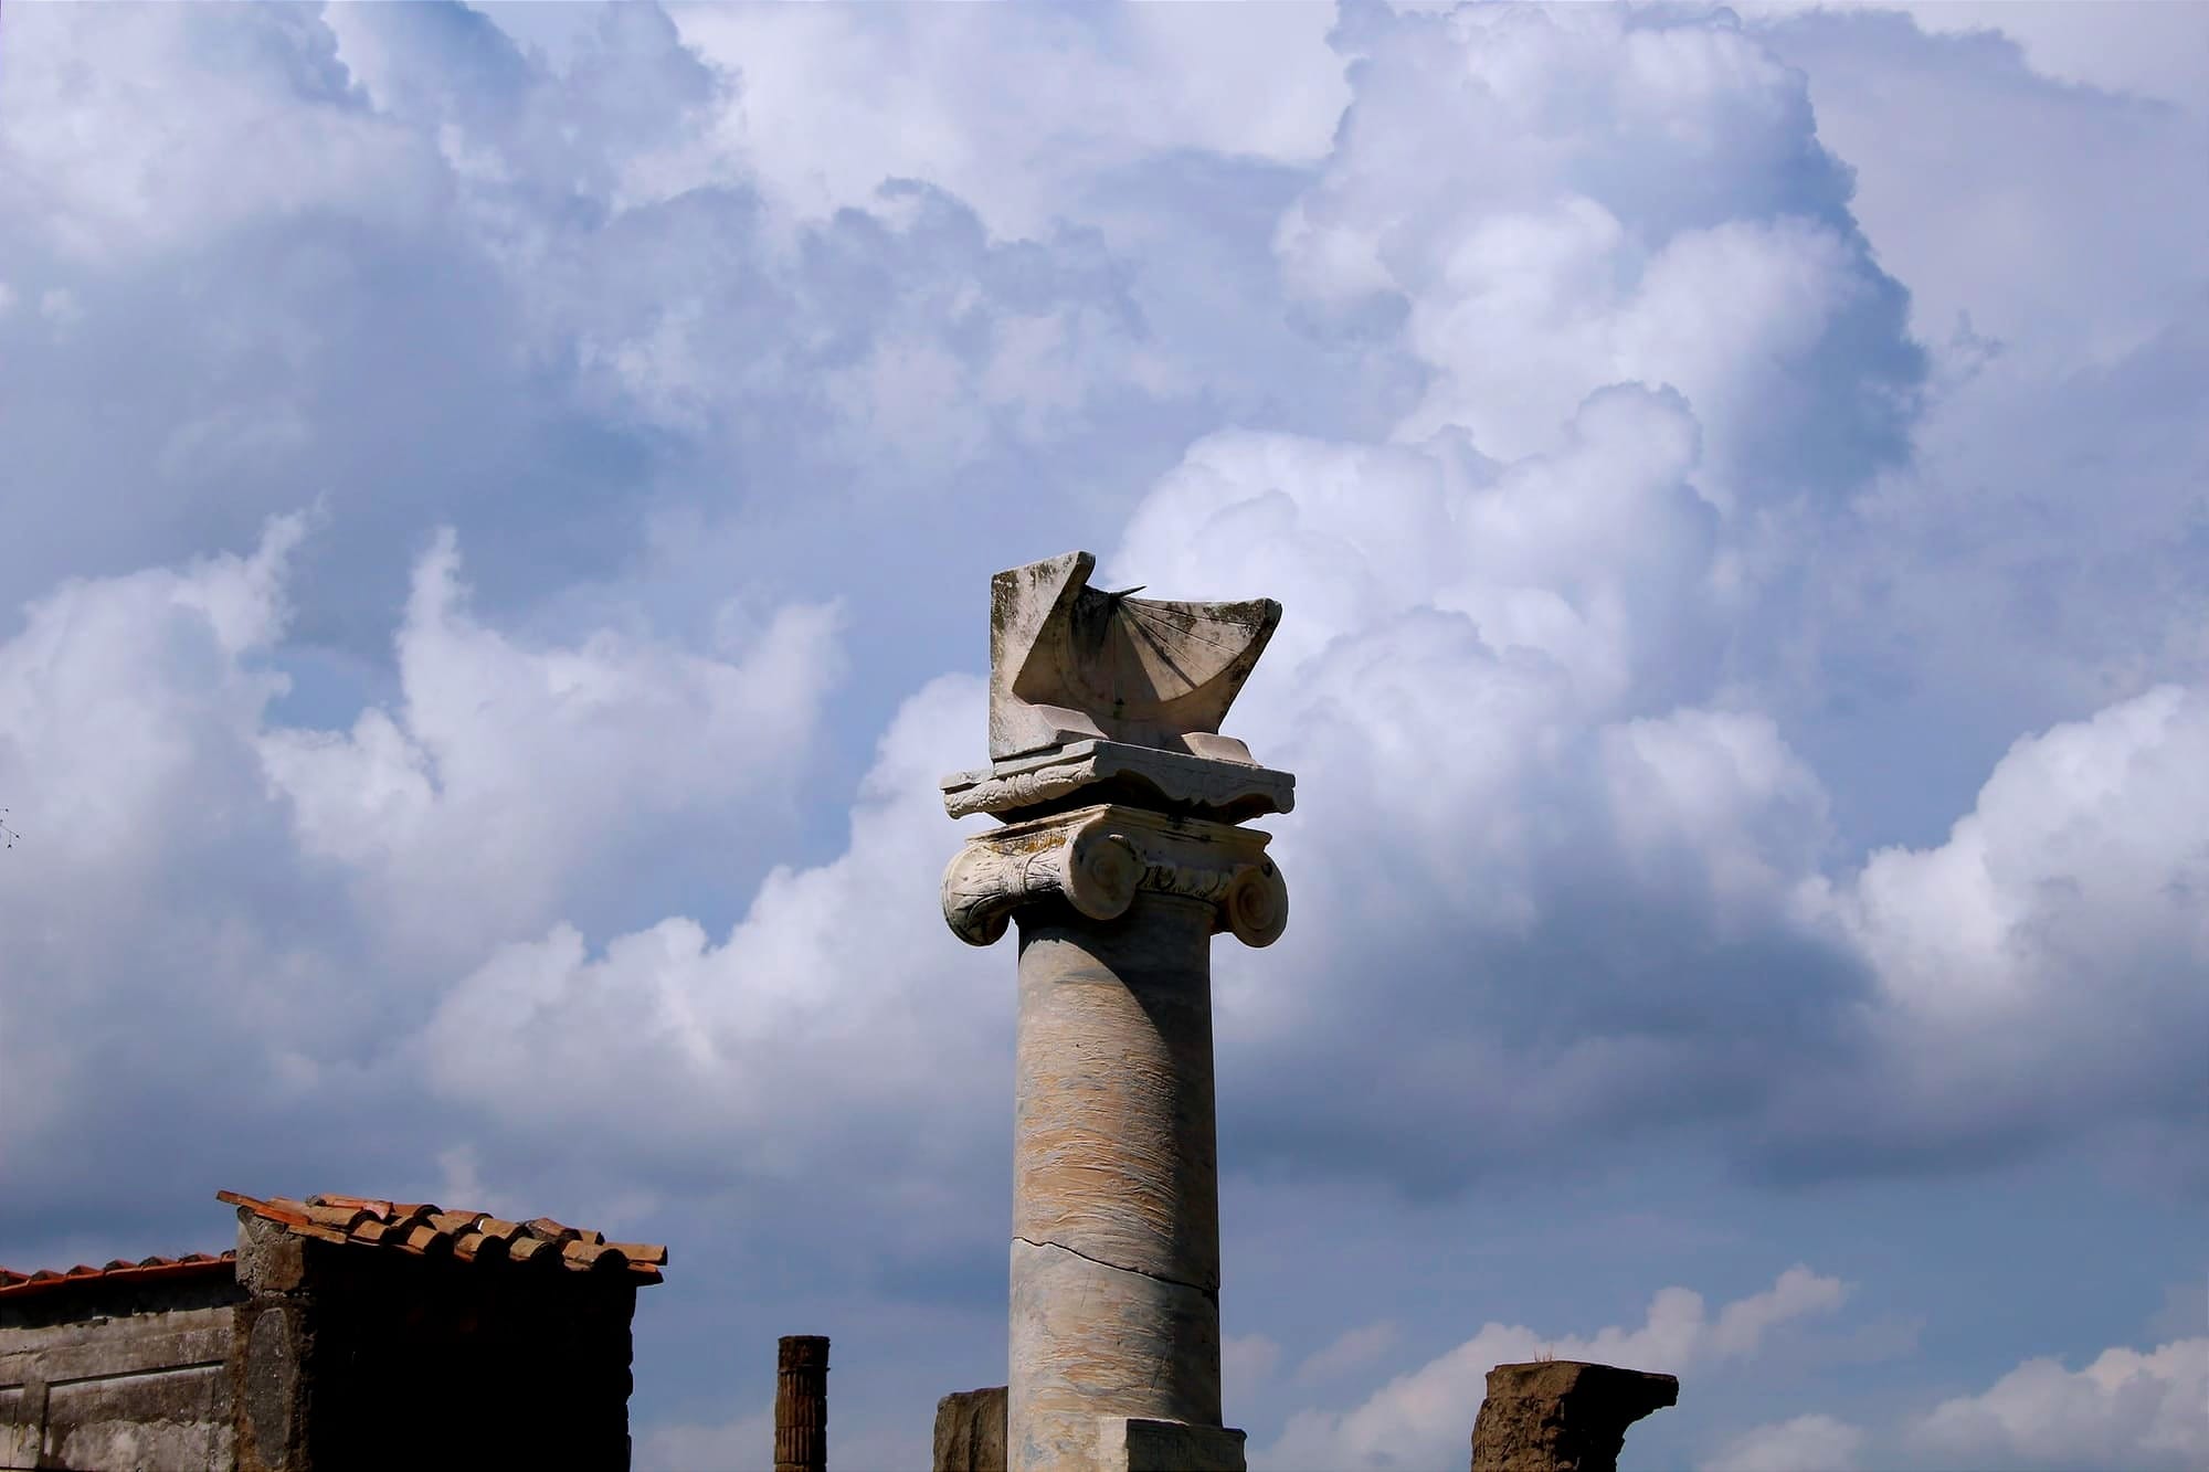
[[[1007,1448],[1087,1465],[1098,1417],[1219,1426],[1215,906],[1021,911]]]

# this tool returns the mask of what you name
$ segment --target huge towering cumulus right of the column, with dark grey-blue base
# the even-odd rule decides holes
[[[1436,378],[1445,398],[1429,396],[1392,444],[1202,440],[1111,559],[1129,581],[1270,592],[1292,610],[1237,718],[1281,732],[1259,740],[1261,756],[1325,780],[1308,782],[1279,849],[1299,886],[1294,984],[1244,990],[1244,968],[1226,964],[1224,1034],[1255,1039],[1250,1085],[1264,1096],[1259,1138],[1244,1143],[1434,1187],[1593,1121],[1632,1132],[1723,1112],[1747,1125],[1736,1158],[1820,1174],[2180,1116],[2187,1068],[2134,1019],[2156,1017],[2156,1037],[2198,1032],[2180,981],[2200,966],[2182,919],[2196,855],[2158,838],[2185,831],[2196,807],[2185,769],[2198,734],[2154,714],[2191,709],[2191,694],[2088,723],[2112,743],[2101,782],[2171,813],[2167,827],[2079,811],[2090,833],[2065,827],[2052,842],[2026,809],[2085,798],[2065,798],[2072,778],[2059,760],[2032,763],[2028,743],[1981,793],[1981,818],[2015,822],[1968,820],[1946,864],[1878,853],[1860,875],[1833,793],[1789,729],[1794,670],[1767,630],[1798,606],[1776,575],[1807,564],[1774,553],[1774,537],[1853,515],[1805,508],[1791,488],[1873,486],[1902,451],[1920,371],[1902,296],[1849,214],[1847,170],[1818,146],[1803,73],[1723,18],[1359,11],[1341,44],[1361,57],[1354,102],[1279,236],[1290,278],[1330,301],[1394,292],[1429,365],[1456,371],[1436,343],[1460,345],[1509,382],[1460,402]],[[1615,66],[1617,53],[1632,64]],[[1462,126],[1484,146],[1451,155],[1465,188],[1438,192],[1423,172],[1431,153],[1412,141],[1467,108]],[[1723,188],[1652,186],[1690,161]],[[1482,232],[1518,230],[1529,210],[1582,221],[1599,252],[1619,252],[1597,256],[1593,281],[1637,285],[1544,285],[1579,261],[1549,234],[1480,265]],[[1471,256],[1447,254],[1460,248]],[[1679,252],[1710,252],[1708,270]],[[1352,256],[1372,270],[1341,265]],[[1847,329],[1814,314],[1796,332],[1772,303],[1736,316],[1765,281],[1822,274],[1862,303]],[[1504,285],[1478,285],[1491,278]],[[1681,298],[1648,332],[1666,362],[1643,369],[1617,343],[1641,334],[1657,290]],[[1418,314],[1460,292],[1493,312],[1423,338]],[[1568,303],[1575,323],[1544,303]],[[1767,336],[1736,340],[1734,325]],[[1756,369],[1719,387],[1697,367],[1705,349],[1712,365]],[[1507,413],[1511,393],[1544,398]],[[1849,418],[1873,404],[1891,418]],[[1756,449],[1743,424],[1783,429]],[[1825,431],[1862,455],[1827,458]],[[2050,756],[2079,745],[2068,732],[2041,738]],[[2149,745],[2156,756],[2134,760]],[[1981,827],[2004,858],[1970,853]],[[2070,842],[2125,849],[2096,864],[2076,904],[2048,886],[2070,873],[2057,858]],[[2017,900],[1986,902],[2030,889],[2046,895],[2030,902],[2041,922],[2004,930],[1962,975],[1860,915],[1917,913],[1931,942],[1948,913],[1935,875],[1968,889],[1981,866],[1997,891],[2017,866]],[[2158,919],[2134,933],[2143,904]],[[2061,977],[2105,968],[2103,926],[2136,957],[2123,966],[2141,1008],[2057,1003],[2001,1023],[1997,992],[2030,990],[2030,975],[2074,995]],[[1951,928],[1937,944],[1970,935]],[[1367,984],[1376,948],[1381,1010]],[[1909,1001],[1928,988],[1959,1008],[1937,1043]],[[1374,1034],[1370,1052],[1308,1045],[1352,1017]],[[2015,1081],[2048,1070],[2065,1087],[2021,1098]],[[1913,1076],[1924,1085],[1898,1087]],[[1336,1087],[1294,1090],[1325,1096],[1319,1112],[1279,1079]],[[1372,1098],[1372,1116],[1352,1098]],[[1484,1127],[1392,1152],[1383,1140],[1401,1140],[1401,1118]]]

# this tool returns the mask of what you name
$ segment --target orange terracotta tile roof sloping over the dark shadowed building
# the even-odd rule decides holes
[[[415,1258],[448,1253],[459,1262],[504,1260],[570,1273],[627,1273],[638,1282],[660,1282],[660,1269],[667,1264],[667,1249],[656,1242],[607,1242],[605,1233],[568,1227],[548,1216],[508,1222],[482,1211],[444,1211],[431,1202],[389,1202],[373,1196],[307,1200],[289,1196],[258,1200],[239,1191],[214,1196],[294,1236],[380,1247]]]

